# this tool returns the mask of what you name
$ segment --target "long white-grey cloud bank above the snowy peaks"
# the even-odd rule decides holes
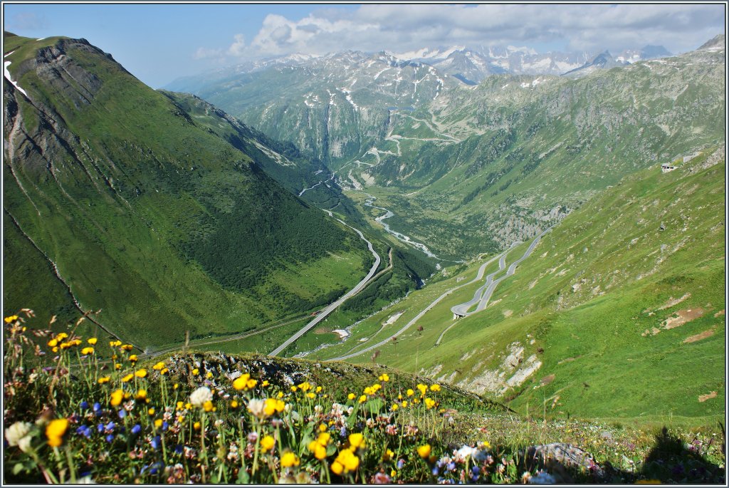
[[[560,43],[585,51],[663,44],[678,53],[723,32],[724,16],[720,4],[366,4],[356,10],[330,7],[300,20],[268,15],[248,47],[238,34],[227,52],[253,58],[345,49]]]

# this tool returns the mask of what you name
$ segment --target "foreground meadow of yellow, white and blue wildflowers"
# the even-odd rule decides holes
[[[343,373],[333,363],[216,359],[189,352],[149,358],[115,338],[77,336],[73,325],[60,333],[31,328],[33,317],[25,310],[4,319],[7,482],[596,479],[589,463],[557,472],[544,462],[529,462],[520,444],[500,430],[505,419],[513,422],[512,412],[448,385],[374,366]],[[579,425],[565,428],[570,426],[586,432]],[[523,438],[523,427],[520,433],[515,438],[523,441],[521,447],[534,441]],[[632,469],[613,469],[609,476],[631,482],[650,481],[650,474],[663,481],[682,481],[679,475],[720,481],[722,441],[694,436],[693,457],[681,458],[685,473],[672,474],[668,465],[668,471],[657,467],[650,473],[638,466],[639,454]],[[619,459],[615,449],[591,447],[606,459]],[[634,446],[634,454],[648,447],[650,440]],[[605,469],[599,472],[604,475]]]

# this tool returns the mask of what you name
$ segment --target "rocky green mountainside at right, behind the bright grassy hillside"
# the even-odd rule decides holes
[[[393,114],[353,176],[397,214],[390,225],[439,255],[503,249],[625,174],[723,142],[722,45],[580,80],[498,75],[448,90]]]

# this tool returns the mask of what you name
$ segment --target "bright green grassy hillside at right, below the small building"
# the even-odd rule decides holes
[[[378,361],[491,391],[518,410],[722,414],[725,165],[702,168],[706,159],[626,177],[548,233],[496,288],[488,309],[460,319],[440,346],[437,337],[453,323],[451,304],[472,291],[459,290],[453,303],[430,311],[422,334],[409,330]],[[518,255],[515,249],[510,260]],[[471,279],[476,267],[462,276]],[[432,298],[408,307],[421,293],[427,288],[398,306],[414,315],[438,295],[431,290]],[[682,316],[690,320],[665,327]],[[520,372],[526,381],[514,380]]]

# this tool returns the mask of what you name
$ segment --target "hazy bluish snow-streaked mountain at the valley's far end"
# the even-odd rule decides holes
[[[348,51],[235,74],[192,91],[276,139],[336,168],[387,135],[395,108],[424,106],[456,80],[392,55]]]

